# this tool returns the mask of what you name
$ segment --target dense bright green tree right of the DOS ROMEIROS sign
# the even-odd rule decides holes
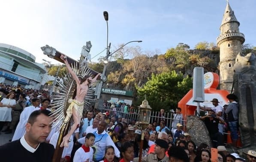
[[[139,101],[147,96],[149,105],[154,110],[171,109],[178,105],[178,101],[193,87],[192,78],[183,78],[183,74],[172,72],[163,72],[161,74],[152,74],[151,79],[142,87],[136,87]]]

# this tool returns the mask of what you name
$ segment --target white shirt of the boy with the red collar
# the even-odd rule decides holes
[[[93,161],[93,149],[91,147],[89,152],[84,152],[83,148],[78,148],[75,151],[73,162],[85,162],[87,159],[89,159],[89,162]]]

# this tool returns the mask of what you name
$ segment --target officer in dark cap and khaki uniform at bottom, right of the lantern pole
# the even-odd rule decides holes
[[[166,156],[166,150],[168,150],[168,143],[163,139],[157,139],[154,152],[142,157],[142,162],[168,162],[169,158]],[[139,162],[139,158],[134,158],[133,162]]]

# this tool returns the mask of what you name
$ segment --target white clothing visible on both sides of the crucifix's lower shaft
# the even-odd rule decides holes
[[[54,148],[56,148],[59,135],[60,135],[60,132],[56,132],[51,136],[50,144],[53,145]],[[71,142],[69,142],[69,147],[68,148],[64,147],[61,158],[64,158],[65,156],[71,156],[71,151],[73,149],[73,144],[74,144],[73,136],[71,136],[70,139],[71,139]]]

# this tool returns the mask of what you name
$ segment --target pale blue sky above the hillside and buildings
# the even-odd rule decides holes
[[[110,51],[122,43],[143,51],[165,53],[178,43],[191,49],[202,41],[216,43],[226,0],[0,0],[0,43],[17,46],[51,61],[40,47],[48,44],[78,59],[81,47],[91,41],[93,58],[107,46],[107,11]],[[256,0],[229,0],[245,43],[256,46]],[[97,62],[99,56],[92,59]]]

